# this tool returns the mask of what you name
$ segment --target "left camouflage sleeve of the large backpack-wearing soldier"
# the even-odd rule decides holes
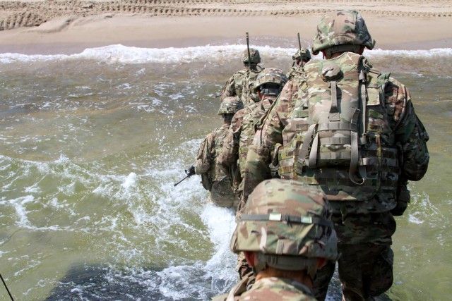
[[[261,125],[258,125],[253,145],[246,155],[242,203],[246,202],[258,183],[271,177],[269,165],[275,155],[275,145],[283,144],[283,129],[293,109],[294,95],[293,82],[287,82]]]

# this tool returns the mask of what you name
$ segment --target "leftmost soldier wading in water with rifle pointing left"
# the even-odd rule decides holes
[[[223,140],[230,127],[234,113],[243,109],[242,101],[237,97],[225,97],[221,102],[218,115],[223,118],[221,128],[208,134],[199,147],[196,163],[189,168],[189,173],[201,175],[203,187],[210,191],[209,199],[220,207],[234,207],[237,209],[239,199],[231,189],[227,174],[216,168],[217,154],[221,152]]]

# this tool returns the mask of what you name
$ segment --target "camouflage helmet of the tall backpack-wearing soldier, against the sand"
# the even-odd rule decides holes
[[[313,54],[319,54],[323,49],[339,47],[339,45],[374,48],[375,40],[370,36],[364,19],[357,11],[342,10],[326,13],[317,25],[317,33],[312,44]]]

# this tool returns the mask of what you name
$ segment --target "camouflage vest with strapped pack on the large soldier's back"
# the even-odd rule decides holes
[[[388,123],[384,86],[389,73],[363,56],[310,61],[279,147],[281,178],[321,185],[330,201],[394,199],[398,149]]]

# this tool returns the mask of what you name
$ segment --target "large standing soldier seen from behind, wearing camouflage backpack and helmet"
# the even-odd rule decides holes
[[[325,192],[338,234],[343,300],[370,300],[391,288],[393,215],[403,214],[408,180],[420,180],[429,163],[429,136],[407,87],[362,56],[374,44],[357,11],[323,16],[312,53],[321,51],[325,60],[309,61],[302,77],[287,82],[245,164],[244,202],[270,178],[270,163],[281,178]],[[314,279],[319,300],[334,268],[329,262]]]

